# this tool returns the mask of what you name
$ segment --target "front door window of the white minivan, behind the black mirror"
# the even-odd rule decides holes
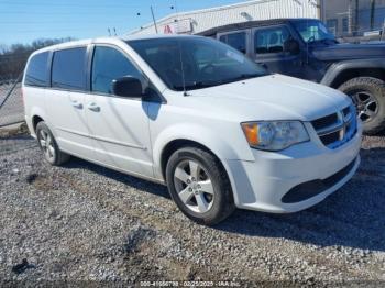
[[[112,95],[112,81],[124,76],[143,79],[142,74],[121,52],[97,46],[94,52],[91,90]]]

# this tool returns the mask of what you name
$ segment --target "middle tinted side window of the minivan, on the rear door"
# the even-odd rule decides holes
[[[52,87],[85,90],[86,47],[57,51],[52,64]]]

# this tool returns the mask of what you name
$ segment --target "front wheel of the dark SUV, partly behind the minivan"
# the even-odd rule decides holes
[[[385,129],[385,81],[358,77],[344,82],[339,90],[352,98],[365,134],[378,134]]]

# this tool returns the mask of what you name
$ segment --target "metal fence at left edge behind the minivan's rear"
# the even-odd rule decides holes
[[[21,78],[0,79],[0,128],[24,121]]]

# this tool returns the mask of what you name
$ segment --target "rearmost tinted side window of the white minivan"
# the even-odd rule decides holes
[[[46,87],[48,80],[48,52],[34,55],[25,71],[24,84],[28,86]]]

